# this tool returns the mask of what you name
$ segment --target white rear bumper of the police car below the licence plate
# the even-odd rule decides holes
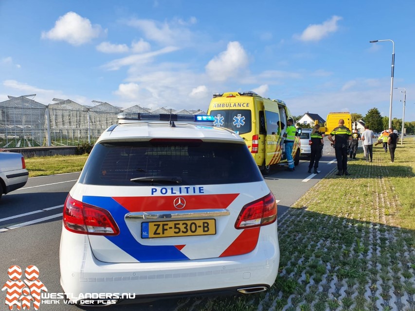
[[[278,272],[276,223],[264,228],[253,252],[241,256],[155,263],[107,263],[97,260],[86,235],[62,229],[61,286],[73,302],[87,294],[129,294],[155,299],[233,292],[260,284],[271,287]],[[262,230],[261,228],[261,230]],[[273,232],[274,239],[270,239]]]

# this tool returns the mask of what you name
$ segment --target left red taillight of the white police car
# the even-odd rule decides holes
[[[118,235],[120,229],[108,210],[66,198],[63,225],[71,232],[92,235]]]

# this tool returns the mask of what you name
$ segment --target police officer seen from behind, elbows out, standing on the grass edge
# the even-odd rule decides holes
[[[337,169],[339,170],[336,175],[350,175],[347,172],[347,146],[348,141],[351,139],[352,132],[344,126],[344,120],[340,119],[339,126],[331,131],[328,136],[328,140],[334,144],[334,151],[336,153]]]

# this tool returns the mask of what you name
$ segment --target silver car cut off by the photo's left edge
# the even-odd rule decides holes
[[[3,194],[26,185],[28,177],[23,155],[0,152],[0,199]]]

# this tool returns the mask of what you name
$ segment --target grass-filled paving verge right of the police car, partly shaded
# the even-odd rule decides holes
[[[415,141],[394,163],[348,162],[307,191],[278,224],[280,271],[265,294],[183,300],[176,310],[415,311]]]

